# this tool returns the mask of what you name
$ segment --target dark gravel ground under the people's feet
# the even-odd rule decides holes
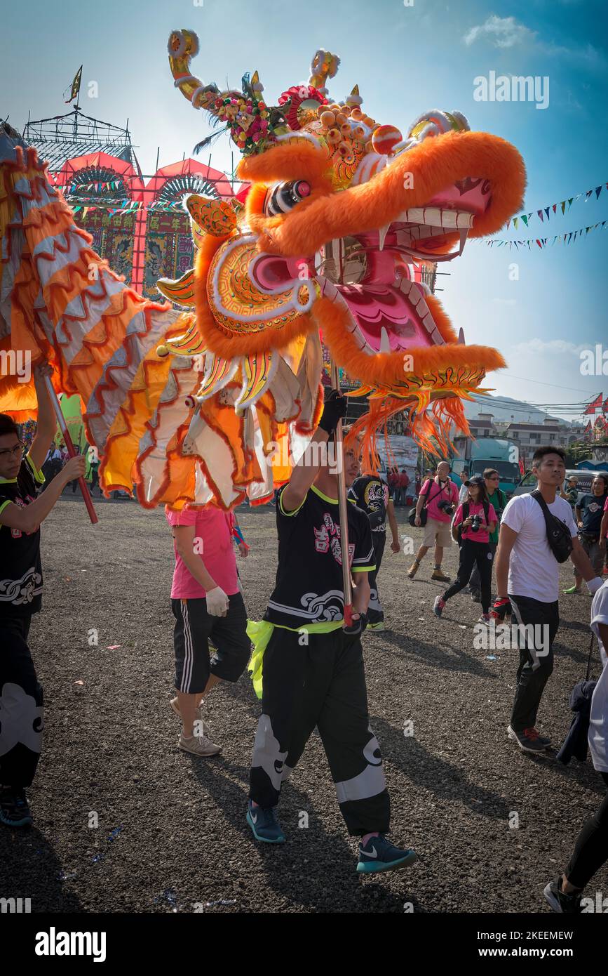
[[[440,621],[433,616],[441,588],[429,579],[431,554],[409,581],[411,557],[388,551],[380,592],[389,630],[363,644],[392,838],[420,860],[361,879],[316,734],[284,789],[287,843],[252,840],[245,809],[259,704],[247,674],[209,695],[221,756],[177,749],[164,513],[95,505],[95,527],[77,499],[64,498],[43,529],[46,596],[31,647],[45,687],[45,746],[30,792],[35,827],[0,830],[0,894],[30,897],[32,912],[549,912],[543,887],[603,785],[589,761],[564,767],[554,752],[529,757],[509,742],[515,652],[475,649],[479,606],[464,593]],[[247,611],[259,619],[274,581],[275,515],[239,515],[251,546],[240,561]],[[418,545],[420,530],[402,531]],[[456,565],[453,546],[444,560],[452,577]],[[568,585],[568,568],[561,573]],[[561,599],[539,721],[555,743],[569,726],[570,689],[585,676],[589,603]],[[413,736],[404,735],[408,719]],[[589,893],[602,889],[606,868]]]

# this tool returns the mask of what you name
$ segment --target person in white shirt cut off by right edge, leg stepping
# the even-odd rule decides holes
[[[597,637],[602,672],[591,698],[589,749],[593,766],[608,787],[608,580],[595,593],[591,603],[591,630]],[[553,912],[574,915],[593,912],[595,899],[582,899],[582,892],[608,857],[608,793],[599,809],[583,825],[574,853],[560,877],[545,888],[545,898]],[[587,902],[587,905],[585,904]],[[589,905],[590,903],[590,905]],[[601,910],[597,910],[601,911]],[[605,910],[604,910],[605,911]]]

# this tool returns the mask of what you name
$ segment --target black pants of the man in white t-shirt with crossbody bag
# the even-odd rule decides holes
[[[523,732],[536,725],[545,685],[553,670],[553,640],[559,627],[559,606],[557,600],[543,603],[531,596],[512,596],[511,593],[509,599],[513,623],[519,625],[519,668],[511,727],[513,732]]]

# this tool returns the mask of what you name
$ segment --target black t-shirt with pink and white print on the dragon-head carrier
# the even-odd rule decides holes
[[[313,485],[300,508],[285,513],[277,497],[279,566],[264,620],[292,630],[344,619],[340,512],[337,501]],[[353,573],[374,569],[369,519],[348,507],[349,554]]]

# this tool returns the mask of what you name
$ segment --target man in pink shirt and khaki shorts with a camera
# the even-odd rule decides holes
[[[437,465],[437,474],[433,479],[427,478],[418,496],[414,525],[424,525],[425,534],[422,546],[407,571],[410,580],[413,580],[418,572],[426,553],[435,546],[435,569],[431,579],[437,580],[438,583],[450,582],[449,576],[441,572],[443,549],[452,544],[450,522],[454,509],[458,505],[458,488],[450,479],[450,470],[448,461],[440,461]]]

